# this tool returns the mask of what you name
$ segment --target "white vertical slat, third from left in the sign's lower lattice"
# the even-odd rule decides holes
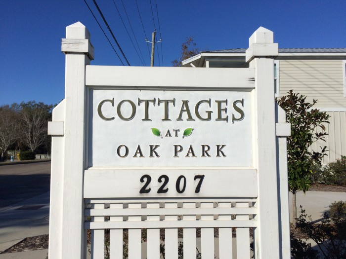
[[[141,208],[141,203],[129,203],[129,209]],[[129,222],[132,224],[134,222],[141,223],[141,216],[129,216]],[[140,227],[135,229],[129,229],[129,259],[139,259],[141,258],[141,243],[142,243],[142,229]]]

